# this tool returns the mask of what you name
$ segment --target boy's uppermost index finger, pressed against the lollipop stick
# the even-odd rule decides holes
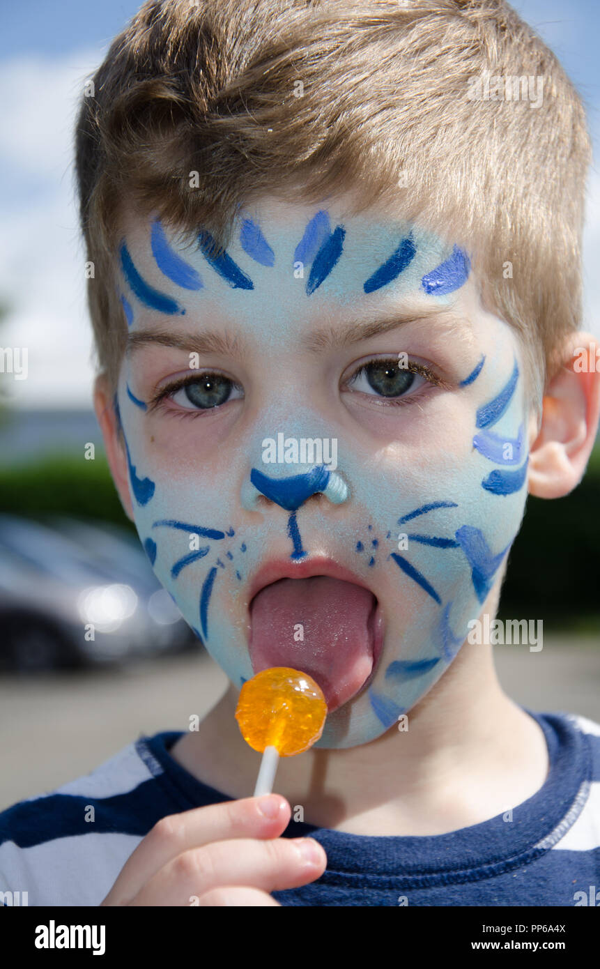
[[[265,811],[272,809],[272,817]],[[243,797],[170,814],[151,828],[123,865],[103,905],[126,905],[142,886],[178,855],[211,841],[274,838],[290,821],[292,810],[281,795]]]

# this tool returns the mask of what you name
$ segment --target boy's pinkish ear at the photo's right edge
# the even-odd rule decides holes
[[[529,452],[528,489],[538,498],[562,498],[584,477],[598,429],[600,348],[590,333],[569,338],[543,403]]]

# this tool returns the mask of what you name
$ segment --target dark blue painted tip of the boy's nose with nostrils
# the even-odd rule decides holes
[[[287,512],[297,512],[305,501],[318,493],[324,494],[332,504],[339,505],[348,497],[348,486],[337,471],[330,471],[324,464],[302,474],[278,478],[252,468],[250,481],[242,495],[242,505],[247,509],[254,508],[262,494]]]

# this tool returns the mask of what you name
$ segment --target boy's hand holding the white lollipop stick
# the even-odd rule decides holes
[[[270,891],[307,885],[327,865],[313,838],[279,837],[290,817],[288,801],[273,794],[161,818],[101,905],[279,905]]]

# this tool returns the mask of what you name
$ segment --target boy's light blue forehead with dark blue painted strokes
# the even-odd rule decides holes
[[[125,215],[119,243],[120,295],[133,328],[180,327],[210,317],[239,328],[305,328],[336,314],[367,319],[374,309],[417,312],[456,302],[469,278],[452,240],[402,220],[395,210],[350,214],[341,200],[275,199],[240,207],[225,253],[199,227],[177,234],[156,218]]]

